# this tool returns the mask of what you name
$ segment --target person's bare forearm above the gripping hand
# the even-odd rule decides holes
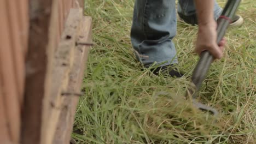
[[[194,0],[198,25],[207,25],[214,21],[214,0]]]

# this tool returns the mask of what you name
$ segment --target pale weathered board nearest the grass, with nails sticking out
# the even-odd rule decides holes
[[[92,20],[91,17],[83,16],[82,28],[77,39],[78,41],[92,41]],[[78,95],[83,81],[86,68],[88,52],[90,47],[77,45],[75,47],[74,64],[69,74],[67,95],[63,95],[61,104],[61,115],[57,124],[57,130],[53,143],[69,143],[73,129],[75,110],[78,103]]]

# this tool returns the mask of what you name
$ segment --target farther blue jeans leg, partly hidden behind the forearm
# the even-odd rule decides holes
[[[190,23],[191,25],[197,24],[194,1],[179,0],[177,11],[179,17],[181,17],[185,22]],[[222,8],[220,8],[218,3],[214,1],[214,19],[217,20],[220,14],[222,14]]]

